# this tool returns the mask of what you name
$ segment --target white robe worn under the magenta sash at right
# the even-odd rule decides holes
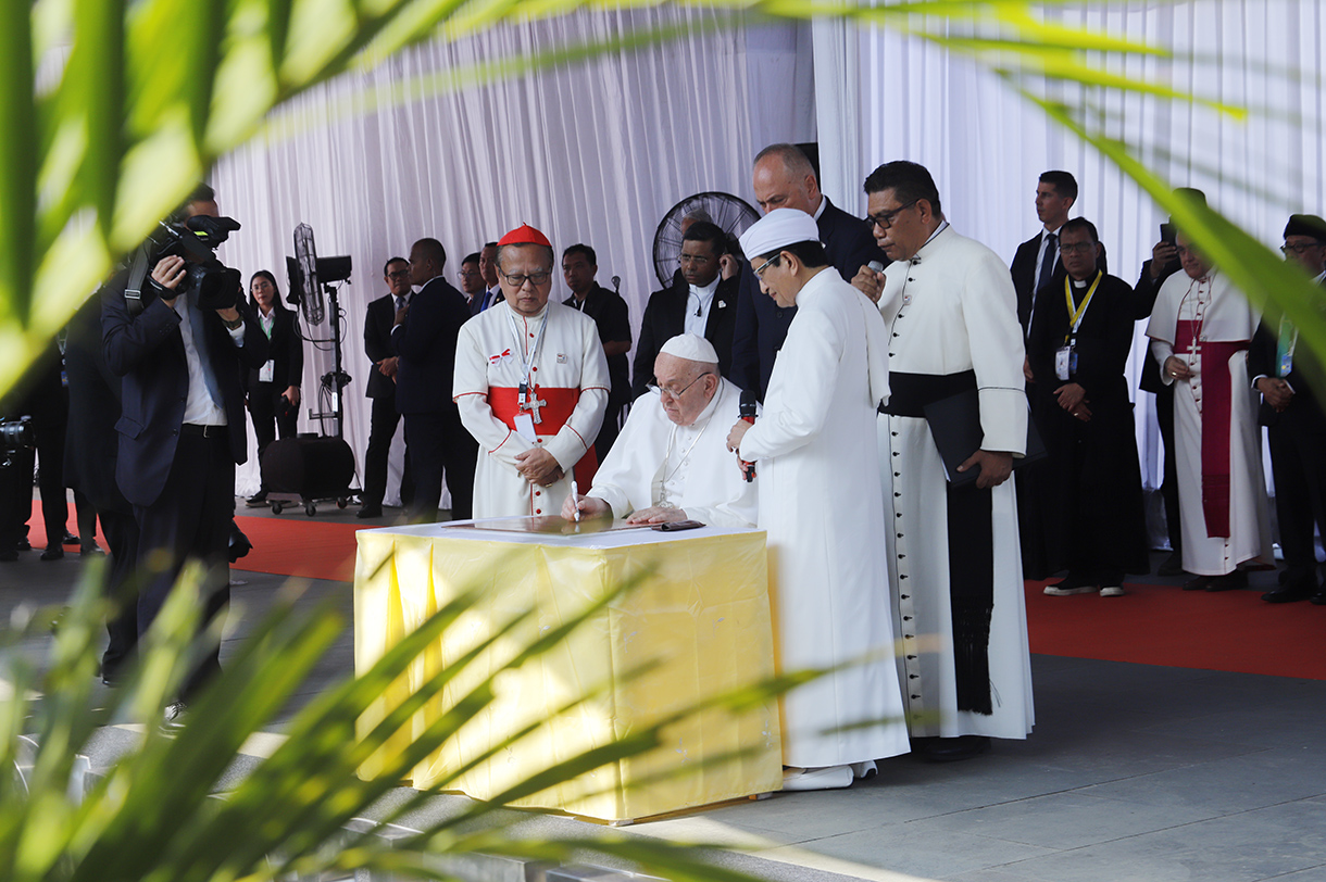
[[[1180,322],[1197,323],[1196,340],[1177,334]],[[1192,327],[1188,324],[1187,327]],[[1270,543],[1270,513],[1266,479],[1261,466],[1261,426],[1257,425],[1257,393],[1248,377],[1246,343],[1257,330],[1257,317],[1246,298],[1229,279],[1212,270],[1199,282],[1175,273],[1156,294],[1147,323],[1151,354],[1160,363],[1160,381],[1174,385],[1175,469],[1179,475],[1179,524],[1183,530],[1183,568],[1199,576],[1223,576],[1238,564],[1260,560],[1274,564]],[[1220,363],[1203,363],[1203,344],[1242,343]],[[1207,348],[1211,348],[1209,346]],[[1196,372],[1176,380],[1164,369],[1171,355],[1188,362]],[[1203,507],[1203,377],[1225,371],[1229,383],[1229,518],[1228,536],[1209,535]]]

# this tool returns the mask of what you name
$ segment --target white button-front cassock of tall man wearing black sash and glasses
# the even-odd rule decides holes
[[[884,270],[879,310],[888,327],[888,371],[975,371],[981,449],[1025,453],[1028,405],[1022,331],[1008,266],[977,241],[940,229],[915,257]],[[1026,738],[1036,722],[1026,599],[1009,478],[992,491],[993,609],[989,679],[993,712],[957,710],[944,465],[923,417],[880,415],[879,462],[890,593],[902,630],[898,675],[914,736]],[[937,645],[935,645],[937,642]]]

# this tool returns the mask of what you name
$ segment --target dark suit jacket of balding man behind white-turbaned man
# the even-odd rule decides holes
[[[879,250],[866,221],[837,208],[827,196],[822,199],[825,209],[815,225],[829,264],[838,274],[851,281],[871,261],[887,266],[888,258]],[[747,261],[752,257],[756,256],[747,254]],[[736,328],[732,335],[732,372],[725,376],[743,389],[754,389],[762,401],[773,373],[773,360],[782,348],[797,307],[778,306],[772,297],[762,294],[760,281],[748,264],[743,264],[740,279]],[[650,372],[652,373],[652,368]]]

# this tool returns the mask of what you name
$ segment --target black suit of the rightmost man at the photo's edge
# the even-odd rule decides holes
[[[1281,377],[1277,342],[1278,328],[1262,322],[1248,347],[1249,376]],[[1313,524],[1326,536],[1326,413],[1307,384],[1311,371],[1303,369],[1311,358],[1306,344],[1294,346],[1292,369],[1281,377],[1294,396],[1281,412],[1265,401],[1258,412],[1268,426],[1270,471],[1276,479],[1276,519],[1286,567],[1284,584],[1294,583],[1303,589],[1319,584]],[[1317,376],[1322,376],[1319,369]]]

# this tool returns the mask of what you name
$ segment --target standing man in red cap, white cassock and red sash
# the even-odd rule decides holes
[[[594,477],[607,359],[591,318],[548,301],[548,237],[522,225],[497,245],[505,299],[461,326],[452,389],[480,446],[475,516],[556,515],[573,475]]]

